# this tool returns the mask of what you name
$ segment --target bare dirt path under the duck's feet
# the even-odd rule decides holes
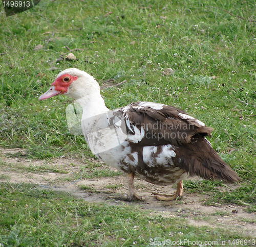
[[[204,201],[210,196],[186,193],[180,201],[161,202],[152,195],[153,192],[172,194],[176,186],[157,186],[140,179],[135,179],[135,190],[139,195],[146,197],[145,201],[129,202],[127,197],[127,183],[125,176],[103,177],[93,179],[77,179],[84,162],[78,158],[62,158],[51,160],[28,160],[25,158],[10,158],[10,154],[24,155],[23,150],[0,149],[1,167],[0,182],[32,183],[51,188],[56,191],[69,192],[78,198],[88,202],[106,203],[109,205],[133,205],[136,208],[151,210],[152,215],[163,217],[181,216],[193,226],[207,226],[211,228],[229,229],[243,233],[246,236],[256,236],[256,214],[244,211],[245,206],[221,205],[206,206]],[[92,162],[92,160],[91,160]],[[93,160],[99,164],[100,161]],[[38,167],[58,168],[61,172],[40,172]],[[13,168],[16,167],[16,168]],[[19,169],[19,167],[22,167]],[[25,167],[25,169],[24,169]],[[34,171],[26,170],[26,167],[35,167]],[[95,169],[116,169],[102,163]],[[236,210],[237,213],[232,213]]]

